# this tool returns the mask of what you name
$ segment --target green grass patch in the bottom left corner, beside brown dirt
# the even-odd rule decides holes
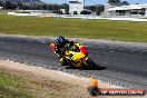
[[[32,98],[29,92],[31,85],[27,79],[0,71],[0,98]]]

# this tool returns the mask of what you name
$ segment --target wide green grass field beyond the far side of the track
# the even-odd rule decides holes
[[[147,42],[147,22],[0,16],[0,33]]]

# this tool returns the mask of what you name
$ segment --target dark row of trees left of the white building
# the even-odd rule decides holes
[[[0,2],[0,7],[3,7],[4,10],[59,10],[59,9],[69,9],[67,3],[62,4],[48,4],[48,3],[23,3],[23,2]]]

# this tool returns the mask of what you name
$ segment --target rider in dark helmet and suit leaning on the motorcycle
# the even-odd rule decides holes
[[[59,36],[57,38],[56,53],[57,53],[58,58],[60,59],[61,65],[66,65],[66,59],[65,59],[63,55],[65,55],[65,49],[67,49],[69,46],[74,46],[74,41],[70,41],[62,36]]]

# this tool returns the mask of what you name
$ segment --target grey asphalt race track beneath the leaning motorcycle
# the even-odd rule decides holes
[[[76,40],[76,39],[74,39]],[[147,46],[76,40],[86,45],[89,57],[100,67],[96,70],[66,69],[47,46],[47,38],[0,37],[0,59],[62,70],[96,78],[125,88],[147,89]]]

